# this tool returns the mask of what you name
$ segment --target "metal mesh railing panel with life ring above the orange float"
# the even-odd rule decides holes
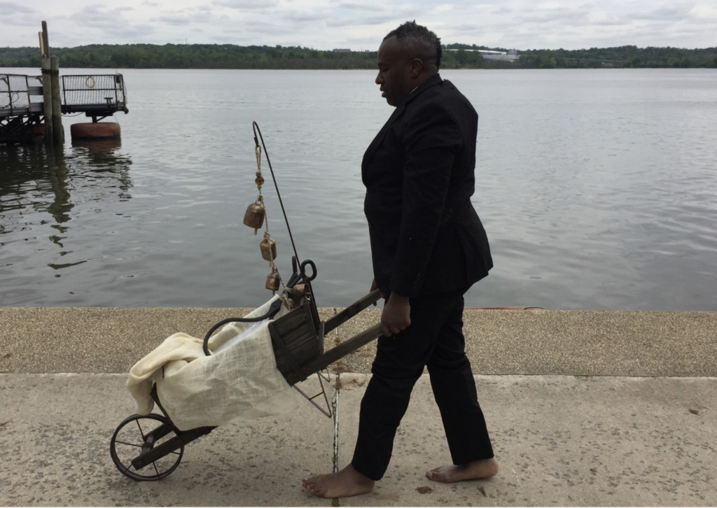
[[[97,105],[122,107],[126,104],[121,74],[62,76],[64,105]]]

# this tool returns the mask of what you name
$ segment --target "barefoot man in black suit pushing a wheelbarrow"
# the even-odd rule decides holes
[[[498,473],[462,334],[463,294],[493,267],[470,203],[478,115],[438,75],[440,39],[415,21],[379,47],[383,97],[395,106],[364,154],[364,211],[373,287],[386,297],[371,380],[351,464],[303,480],[320,497],[365,494],[391,459],[411,391],[427,366],[453,464],[427,472],[442,482]]]

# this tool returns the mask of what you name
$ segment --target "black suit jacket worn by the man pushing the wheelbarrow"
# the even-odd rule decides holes
[[[434,75],[411,92],[361,164],[374,277],[409,297],[465,290],[493,267],[470,196],[478,114]]]

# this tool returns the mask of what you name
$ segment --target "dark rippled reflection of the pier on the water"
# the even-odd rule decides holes
[[[85,230],[71,247],[67,239],[73,228],[85,228],[92,206],[96,212],[131,198],[132,161],[119,148],[120,140],[0,145],[2,305],[41,305],[38,294],[52,292],[49,277],[87,262],[98,237]]]

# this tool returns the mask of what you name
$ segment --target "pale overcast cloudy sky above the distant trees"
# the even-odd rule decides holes
[[[0,47],[237,44],[375,51],[404,21],[443,44],[717,47],[717,0],[0,0]]]

